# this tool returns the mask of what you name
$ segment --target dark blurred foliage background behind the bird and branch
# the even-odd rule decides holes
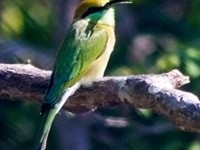
[[[79,0],[1,0],[0,63],[52,69]],[[200,95],[200,1],[134,0],[116,8],[115,51],[106,75],[162,73],[190,76]],[[0,101],[0,150],[32,150],[39,104]],[[199,150],[200,135],[176,129],[165,117],[128,106],[56,118],[47,150]]]

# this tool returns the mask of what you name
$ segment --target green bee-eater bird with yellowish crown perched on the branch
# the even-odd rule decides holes
[[[41,106],[37,150],[45,150],[54,118],[81,84],[104,75],[115,45],[116,4],[129,0],[82,0],[59,48]]]

